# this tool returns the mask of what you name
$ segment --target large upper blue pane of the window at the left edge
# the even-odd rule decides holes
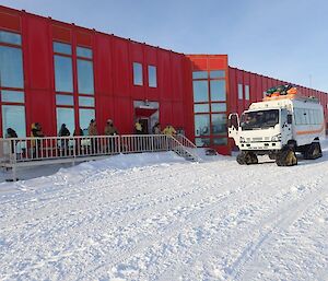
[[[24,87],[22,50],[0,46],[1,86]]]

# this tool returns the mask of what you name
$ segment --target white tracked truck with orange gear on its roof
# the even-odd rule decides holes
[[[239,148],[239,164],[257,164],[258,155],[269,155],[278,166],[297,164],[295,152],[304,159],[323,155],[324,109],[317,98],[297,95],[265,97],[253,103],[241,119],[231,114],[229,137]]]

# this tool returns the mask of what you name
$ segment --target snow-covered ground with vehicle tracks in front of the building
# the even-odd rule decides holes
[[[212,160],[0,184],[0,280],[328,280],[328,143],[293,167]]]

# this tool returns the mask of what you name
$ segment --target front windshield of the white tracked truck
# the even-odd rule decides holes
[[[279,122],[279,109],[244,113],[241,118],[242,130],[258,130],[274,127]]]

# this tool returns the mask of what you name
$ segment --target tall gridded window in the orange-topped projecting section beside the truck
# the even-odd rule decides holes
[[[225,70],[194,71],[192,89],[196,145],[226,145]]]

